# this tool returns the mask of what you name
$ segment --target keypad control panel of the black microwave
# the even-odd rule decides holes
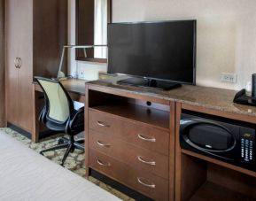
[[[255,158],[255,131],[250,128],[240,131],[241,159],[245,163],[252,163]]]

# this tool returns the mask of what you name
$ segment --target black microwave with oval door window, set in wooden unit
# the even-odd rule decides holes
[[[182,113],[180,143],[184,150],[256,171],[253,125]]]

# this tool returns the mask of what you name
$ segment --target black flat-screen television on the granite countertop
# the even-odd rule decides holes
[[[195,84],[196,27],[196,20],[108,24],[108,73],[134,77],[127,84]]]

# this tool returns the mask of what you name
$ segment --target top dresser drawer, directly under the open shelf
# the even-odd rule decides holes
[[[168,155],[169,132],[142,122],[89,109],[89,128]]]

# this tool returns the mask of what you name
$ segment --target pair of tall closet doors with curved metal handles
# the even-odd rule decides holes
[[[6,1],[7,120],[32,130],[33,0]],[[19,67],[14,65],[20,58]]]

